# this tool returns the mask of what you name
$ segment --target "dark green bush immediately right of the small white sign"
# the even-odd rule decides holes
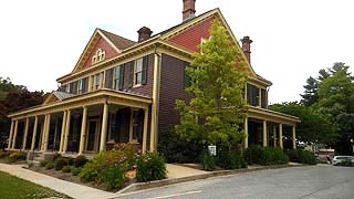
[[[217,165],[225,169],[247,168],[247,161],[241,157],[239,150],[221,148],[217,154]]]

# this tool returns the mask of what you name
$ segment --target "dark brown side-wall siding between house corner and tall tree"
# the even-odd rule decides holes
[[[160,66],[160,91],[158,105],[158,134],[179,123],[179,114],[175,109],[176,100],[189,102],[184,88],[184,61],[163,54]]]

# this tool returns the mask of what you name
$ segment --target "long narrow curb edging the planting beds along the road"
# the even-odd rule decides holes
[[[163,179],[163,180],[156,180],[156,181],[149,181],[149,182],[136,182],[132,184],[124,189],[121,189],[116,192],[116,195],[121,193],[127,193],[133,191],[139,191],[143,189],[152,189],[156,187],[165,187],[187,181],[195,181],[200,179],[207,179],[212,177],[220,177],[220,176],[228,176],[228,175],[236,175],[236,174],[246,174],[246,172],[253,172],[259,170],[267,170],[267,169],[279,169],[279,168],[289,168],[289,167],[303,167],[303,166],[310,166],[310,165],[275,165],[275,166],[262,166],[262,167],[256,167],[256,168],[242,168],[242,169],[236,169],[236,170],[220,170],[220,171],[211,171],[208,174],[202,175],[196,175],[196,176],[188,176],[188,177],[181,177],[181,178],[171,178],[171,179]]]

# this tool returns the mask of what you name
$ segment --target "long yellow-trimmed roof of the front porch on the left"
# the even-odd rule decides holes
[[[56,113],[65,109],[74,109],[83,106],[93,106],[98,104],[115,104],[136,108],[148,108],[153,102],[152,97],[135,93],[113,91],[102,88],[82,95],[74,95],[60,101],[50,102],[39,106],[33,106],[20,112],[11,113],[8,117],[24,118],[48,113]]]

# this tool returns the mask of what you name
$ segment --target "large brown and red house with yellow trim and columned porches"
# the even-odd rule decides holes
[[[137,42],[96,29],[73,71],[58,78],[58,91],[42,105],[9,115],[8,149],[81,155],[135,142],[143,151],[156,150],[164,130],[179,122],[175,102],[188,101],[185,67],[209,39],[214,20],[221,21],[248,63],[244,147],[282,147],[283,125],[291,127],[295,147],[300,119],[268,109],[271,82],[251,67],[252,40],[244,36],[240,46],[219,9],[195,17],[195,0],[183,3],[180,24],[154,35],[143,27]]]

